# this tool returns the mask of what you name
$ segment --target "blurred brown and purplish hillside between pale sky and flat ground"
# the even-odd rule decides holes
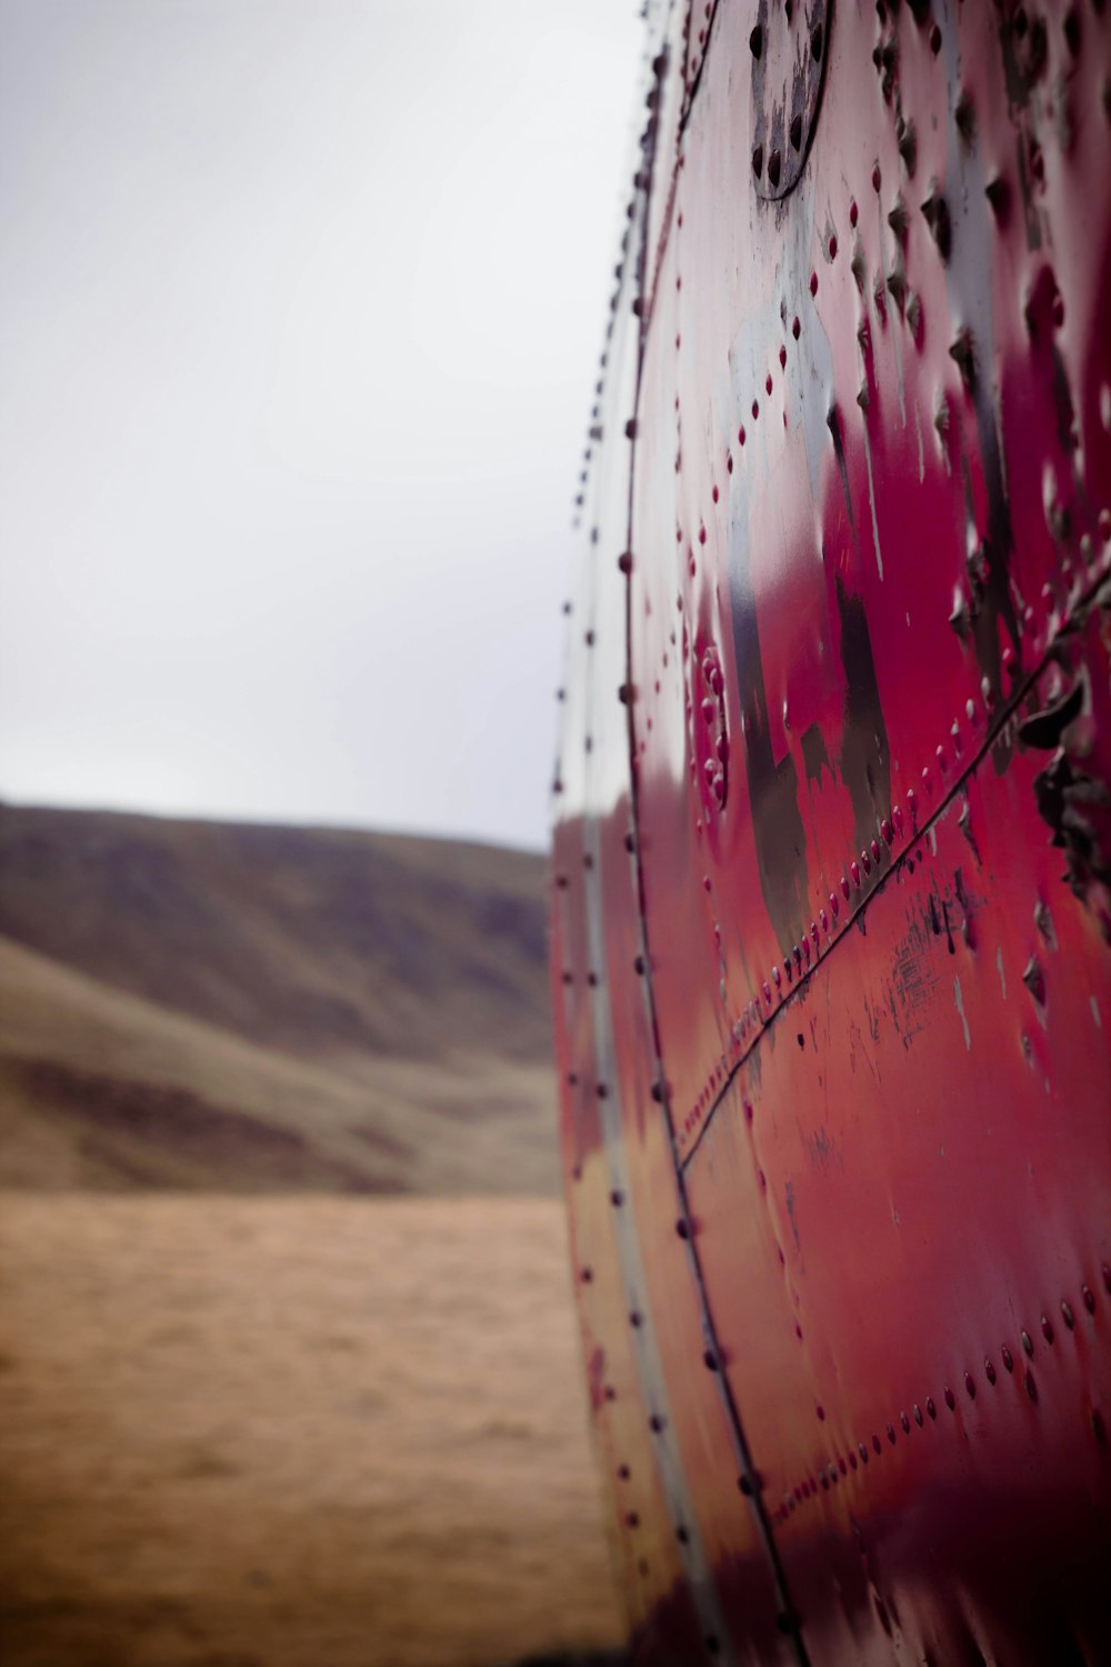
[[[541,857],[0,807],[0,1185],[555,1192]]]

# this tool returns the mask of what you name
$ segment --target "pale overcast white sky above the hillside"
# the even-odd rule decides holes
[[[636,0],[0,0],[0,798],[541,847]]]

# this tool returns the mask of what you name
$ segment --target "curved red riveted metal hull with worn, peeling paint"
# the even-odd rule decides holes
[[[676,5],[553,850],[645,1660],[1111,1660],[1111,20]]]

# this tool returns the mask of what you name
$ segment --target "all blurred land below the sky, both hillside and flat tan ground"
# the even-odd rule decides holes
[[[620,1642],[543,874],[0,808],[7,1667]]]

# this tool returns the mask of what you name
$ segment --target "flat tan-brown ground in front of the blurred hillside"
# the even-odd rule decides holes
[[[0,1195],[5,1667],[621,1632],[560,1204]]]

